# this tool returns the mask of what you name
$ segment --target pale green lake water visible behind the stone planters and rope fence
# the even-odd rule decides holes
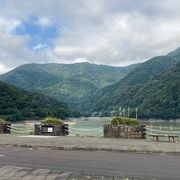
[[[103,137],[103,125],[109,124],[112,117],[82,117],[66,121],[69,124],[69,136],[96,136]],[[39,121],[26,121],[12,124],[12,134],[32,134],[34,124]],[[180,135],[180,120],[150,119],[141,120],[147,125],[147,133],[163,134],[171,132]]]

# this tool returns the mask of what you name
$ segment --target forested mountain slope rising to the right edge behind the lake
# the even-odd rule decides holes
[[[140,117],[180,117],[180,49],[152,58],[117,83],[101,89],[85,110],[109,115],[120,106],[138,108]]]

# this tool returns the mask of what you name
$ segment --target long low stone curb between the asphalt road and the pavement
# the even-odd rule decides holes
[[[77,146],[41,146],[41,145],[27,145],[27,144],[0,144],[1,146],[20,147],[34,150],[62,150],[62,151],[97,151],[97,152],[117,152],[117,153],[135,153],[135,154],[169,154],[180,155],[179,152],[167,151],[151,151],[151,150],[136,150],[136,149],[113,149],[113,148],[98,148],[98,147],[77,147]]]

